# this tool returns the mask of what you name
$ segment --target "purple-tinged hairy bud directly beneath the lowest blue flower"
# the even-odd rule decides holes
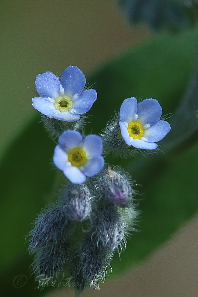
[[[67,189],[61,189],[59,197],[69,220],[83,222],[90,217],[93,197],[85,184],[72,184]]]

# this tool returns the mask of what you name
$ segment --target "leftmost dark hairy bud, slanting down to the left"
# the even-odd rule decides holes
[[[64,236],[67,224],[64,211],[60,207],[39,214],[34,222],[34,229],[30,232],[29,251],[32,253],[57,243]]]

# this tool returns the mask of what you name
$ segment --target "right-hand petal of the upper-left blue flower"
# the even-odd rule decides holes
[[[90,110],[96,99],[97,93],[94,89],[85,90],[79,95],[78,99],[74,101],[72,109],[75,110],[75,113],[86,113]]]

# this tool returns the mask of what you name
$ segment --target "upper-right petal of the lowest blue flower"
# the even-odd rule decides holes
[[[102,138],[98,135],[88,135],[83,141],[83,149],[92,157],[102,154]]]

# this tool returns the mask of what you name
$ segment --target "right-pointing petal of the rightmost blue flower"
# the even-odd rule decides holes
[[[162,140],[170,131],[170,124],[167,121],[157,121],[144,132],[144,137],[148,142],[157,142]]]

